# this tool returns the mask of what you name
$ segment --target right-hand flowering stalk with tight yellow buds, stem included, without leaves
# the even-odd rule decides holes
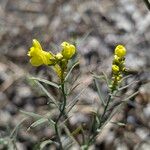
[[[88,147],[95,141],[96,136],[99,133],[99,129],[103,126],[105,121],[106,112],[108,110],[109,104],[112,101],[112,95],[114,94],[115,90],[117,90],[120,80],[123,77],[123,73],[125,72],[125,55],[126,55],[126,49],[123,45],[118,45],[115,48],[115,53],[114,53],[114,59],[112,63],[112,80],[111,84],[109,86],[110,88],[110,94],[107,99],[107,102],[105,104],[104,110],[102,115],[100,116],[100,122],[98,124],[97,129],[94,131],[93,135],[89,138],[87,141],[87,144],[84,147],[84,150],[88,150]]]

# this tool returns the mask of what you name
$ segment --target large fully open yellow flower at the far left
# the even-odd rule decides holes
[[[54,57],[52,53],[46,52],[42,50],[40,43],[33,39],[33,46],[30,48],[28,52],[28,56],[31,57],[30,63],[33,66],[40,66],[40,65],[52,65],[54,62]]]

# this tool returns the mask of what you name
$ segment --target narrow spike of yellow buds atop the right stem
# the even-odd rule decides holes
[[[115,48],[114,59],[112,63],[112,83],[110,85],[111,91],[116,90],[120,80],[125,72],[125,55],[126,48],[123,45],[118,45]]]

